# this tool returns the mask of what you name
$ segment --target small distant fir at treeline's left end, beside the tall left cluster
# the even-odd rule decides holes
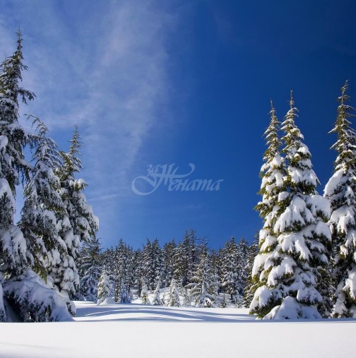
[[[97,302],[97,285],[102,274],[100,241],[95,238],[85,242],[78,259],[80,289],[78,299]]]

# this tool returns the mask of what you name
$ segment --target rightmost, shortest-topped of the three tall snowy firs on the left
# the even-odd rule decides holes
[[[76,308],[71,298],[74,297],[79,286],[76,260],[81,242],[88,242],[95,238],[99,224],[83,193],[87,184],[83,179],[74,177],[82,168],[78,157],[81,147],[82,143],[76,127],[69,152],[60,152],[63,165],[57,170],[61,181],[61,199],[66,209],[63,215],[57,215],[57,227],[59,237],[66,244],[66,252],[60,253],[60,263],[50,270],[53,287],[66,300],[69,311],[73,315],[76,314]]]

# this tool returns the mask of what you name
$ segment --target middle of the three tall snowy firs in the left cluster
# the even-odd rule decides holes
[[[31,136],[35,165],[24,189],[25,203],[19,226],[34,259],[32,268],[46,281],[47,266],[57,263],[55,257],[59,257],[65,246],[58,237],[56,220],[56,213],[65,210],[59,195],[59,177],[54,174],[61,162],[56,143],[47,137],[47,126],[39,118],[30,117],[34,118],[32,125],[37,127],[37,135]],[[58,255],[54,256],[54,251]]]

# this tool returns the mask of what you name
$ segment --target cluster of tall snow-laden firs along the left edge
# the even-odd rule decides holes
[[[0,321],[63,321],[76,313],[78,253],[95,239],[97,217],[76,175],[81,140],[74,130],[68,151],[49,138],[45,123],[30,115],[35,133],[19,123],[19,100],[35,94],[20,87],[22,37],[0,64]],[[25,157],[25,149],[32,157]],[[16,188],[25,202],[14,222]]]

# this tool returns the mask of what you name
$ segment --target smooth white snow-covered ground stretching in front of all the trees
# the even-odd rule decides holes
[[[352,319],[255,321],[236,308],[76,306],[74,322],[0,323],[0,358],[356,356]]]

